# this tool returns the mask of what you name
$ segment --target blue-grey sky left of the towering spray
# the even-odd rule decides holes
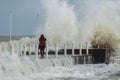
[[[12,14],[12,35],[34,35],[37,29],[37,14],[40,26],[44,26],[44,11],[40,0],[0,0],[0,35],[9,35]]]

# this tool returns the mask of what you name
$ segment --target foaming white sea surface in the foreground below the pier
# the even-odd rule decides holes
[[[71,55],[49,55],[48,58],[36,58],[36,55],[20,56],[21,42],[31,42],[28,37],[13,41],[14,54],[11,54],[7,44],[2,42],[4,50],[0,51],[1,80],[119,80],[119,56],[110,64],[73,64]],[[34,41],[34,40],[33,40]],[[0,44],[1,45],[1,44]],[[5,46],[6,45],[6,46]],[[50,46],[49,46],[50,47]],[[34,46],[32,46],[34,48]],[[3,48],[2,48],[3,49]],[[115,61],[116,60],[116,61]]]

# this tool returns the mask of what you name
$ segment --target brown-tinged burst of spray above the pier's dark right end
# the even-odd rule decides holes
[[[120,35],[110,22],[102,21],[94,26],[92,44],[108,45],[112,49],[119,48]]]

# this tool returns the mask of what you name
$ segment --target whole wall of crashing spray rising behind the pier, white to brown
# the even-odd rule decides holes
[[[118,48],[120,1],[41,0],[46,12],[48,42],[94,42]],[[108,41],[109,40],[109,41]]]

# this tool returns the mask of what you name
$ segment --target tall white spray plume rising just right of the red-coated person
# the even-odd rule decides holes
[[[51,44],[72,42],[77,35],[76,19],[66,1],[41,0],[46,10],[45,34]]]

